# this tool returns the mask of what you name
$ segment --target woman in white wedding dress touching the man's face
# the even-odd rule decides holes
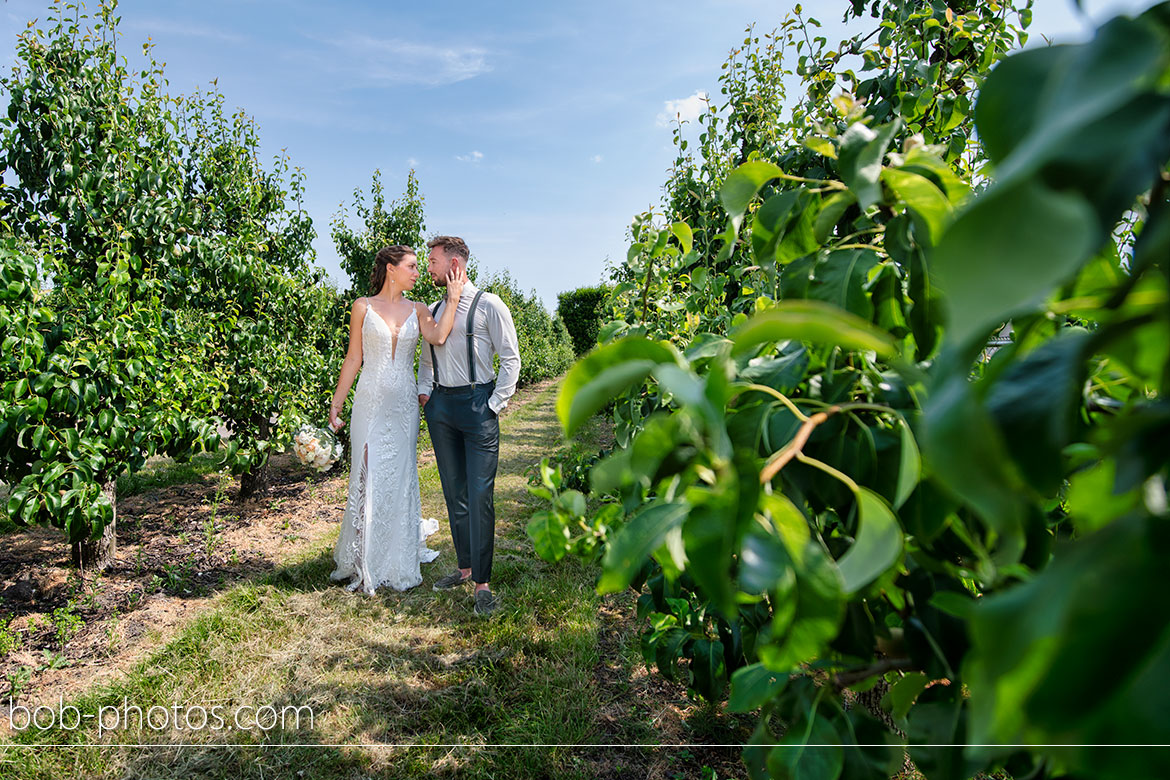
[[[370,276],[376,292],[353,303],[350,347],[329,409],[329,422],[339,430],[345,398],[360,370],[350,417],[350,492],[330,577],[369,594],[383,585],[397,591],[419,585],[419,564],[439,554],[426,546],[439,523],[422,518],[419,501],[414,347],[420,334],[435,345],[447,339],[467,277],[460,269],[447,276],[450,305],[439,322],[426,304],[402,297],[418,278],[413,249],[395,244],[378,251]]]

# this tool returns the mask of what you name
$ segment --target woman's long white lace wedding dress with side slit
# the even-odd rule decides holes
[[[422,518],[419,499],[418,341],[413,311],[395,338],[391,325],[366,306],[362,374],[350,417],[350,493],[330,575],[350,580],[350,591],[413,588],[422,582],[419,565],[439,554],[426,546],[439,522]]]

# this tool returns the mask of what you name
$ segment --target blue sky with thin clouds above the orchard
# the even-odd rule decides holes
[[[76,1],[76,0],[75,0]],[[387,199],[415,171],[426,234],[462,236],[549,311],[626,255],[632,218],[660,202],[670,119],[717,97],[744,29],[793,2],[591,0],[123,0],[122,50],[166,62],[173,94],[212,80],[260,127],[267,158],[305,174],[316,262],[347,287],[330,221],[380,170]],[[845,0],[805,0],[840,40]],[[1031,44],[1082,40],[1092,20],[1151,0],[1037,0]],[[49,0],[0,8],[0,68]],[[95,11],[96,4],[89,4]],[[352,213],[352,209],[351,209]]]

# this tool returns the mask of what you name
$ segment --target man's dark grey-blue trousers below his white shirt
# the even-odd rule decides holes
[[[496,543],[496,468],[500,419],[488,407],[495,384],[436,387],[422,407],[447,501],[460,568],[476,582],[491,580]]]

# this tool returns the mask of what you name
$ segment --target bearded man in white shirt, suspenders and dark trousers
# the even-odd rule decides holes
[[[467,244],[456,236],[427,242],[427,270],[442,287],[455,268],[467,271]],[[447,305],[435,303],[435,317]],[[500,378],[491,368],[500,356]],[[455,309],[455,325],[441,346],[424,346],[419,360],[419,403],[427,419],[447,501],[450,537],[459,571],[440,578],[435,591],[475,580],[475,614],[490,615],[500,606],[491,594],[491,552],[495,547],[496,465],[500,460],[500,412],[516,392],[519,344],[511,312],[498,296],[476,289],[468,279]]]

